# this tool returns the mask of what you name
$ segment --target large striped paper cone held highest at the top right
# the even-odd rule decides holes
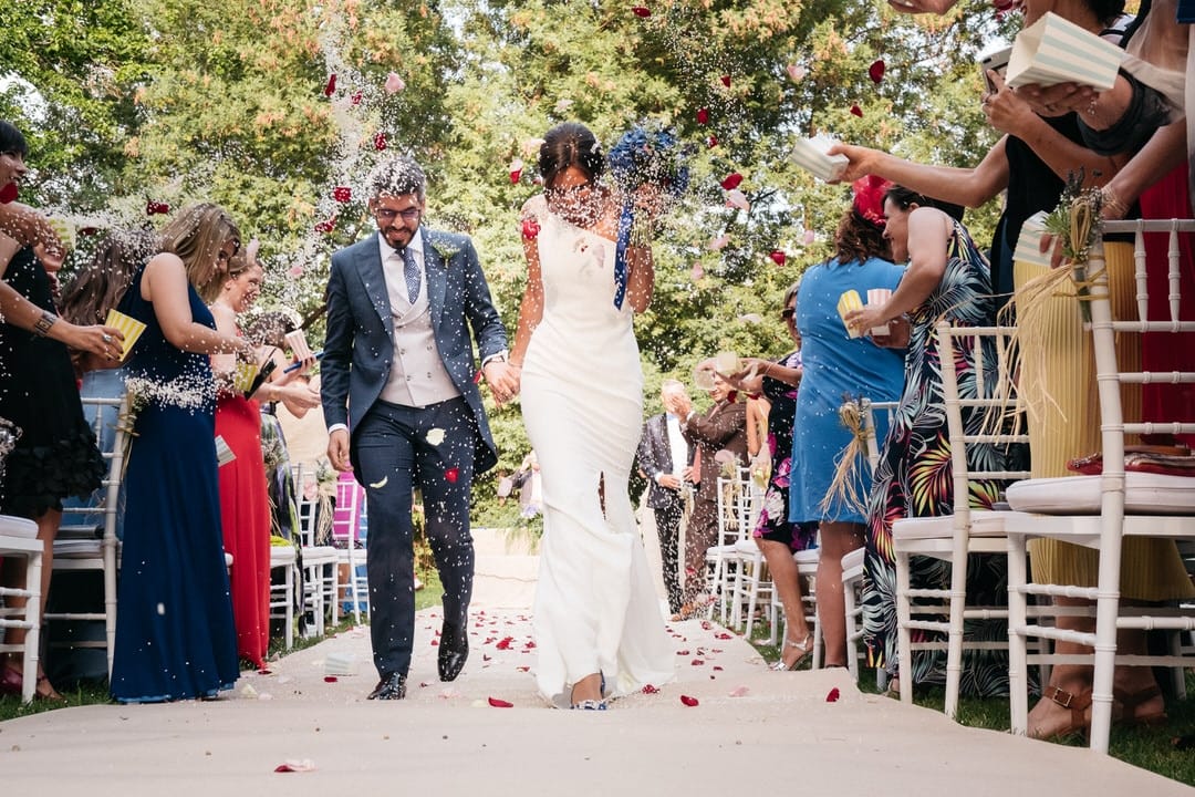
[[[1108,91],[1124,50],[1053,12],[1017,33],[1009,59],[1007,85],[1053,86],[1077,82]]]

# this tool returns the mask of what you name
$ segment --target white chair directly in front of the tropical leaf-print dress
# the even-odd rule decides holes
[[[942,357],[942,384],[950,437],[951,476],[954,480],[952,514],[940,517],[906,517],[893,523],[893,552],[896,560],[897,656],[902,673],[901,701],[913,701],[913,651],[946,649],[945,713],[954,718],[958,707],[963,648],[972,650],[1006,649],[1006,639],[964,640],[967,620],[1006,620],[1007,606],[968,606],[967,568],[973,553],[1005,556],[1007,541],[999,522],[973,523],[972,486],[978,480],[1009,482],[1028,478],[1028,471],[1006,467],[1003,459],[980,465],[972,453],[976,445],[1007,449],[1028,445],[1028,434],[1010,434],[1006,418],[1016,411],[1013,375],[1017,370],[1012,327],[954,327],[939,321],[936,330]],[[970,351],[975,366],[974,392],[961,394],[956,358]],[[994,361],[989,357],[994,356]],[[994,378],[993,378],[994,374]],[[972,430],[964,425],[970,416]],[[972,465],[970,462],[976,462]],[[991,513],[989,513],[991,514]],[[1000,513],[994,513],[998,517]],[[909,560],[932,557],[950,563],[945,588],[914,589],[909,580]],[[945,619],[942,619],[945,618]],[[945,642],[913,643],[912,631],[945,634]]]

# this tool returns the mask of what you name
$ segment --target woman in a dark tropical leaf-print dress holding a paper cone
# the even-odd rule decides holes
[[[958,210],[957,208],[955,209]],[[926,651],[913,662],[896,661],[896,570],[893,558],[891,523],[896,517],[930,517],[954,511],[954,488],[949,470],[939,462],[950,460],[950,441],[945,413],[934,411],[943,401],[937,337],[933,327],[940,320],[952,326],[993,326],[997,299],[992,295],[987,259],[980,253],[967,228],[956,219],[933,207],[926,197],[903,186],[884,194],[884,238],[893,259],[908,260],[900,284],[888,301],[851,311],[845,321],[860,333],[891,326],[887,342],[907,348],[905,387],[900,406],[884,440],[874,486],[868,502],[866,556],[864,558],[864,627],[870,657],[884,667],[891,678],[897,666],[912,688],[918,682],[944,682],[945,651]],[[902,317],[907,315],[907,323]],[[955,352],[958,391],[963,396],[978,392],[976,384],[993,384],[998,357],[992,338],[983,338],[980,351],[961,345]],[[978,361],[982,361],[981,372]],[[991,391],[985,391],[991,394]],[[969,435],[983,428],[981,411],[963,409],[963,427]],[[967,452],[968,461],[982,461],[993,470],[1009,467],[1010,455],[993,443],[976,443]],[[1005,462],[1005,467],[999,465]],[[1001,483],[970,483],[972,505],[987,509],[999,497]],[[983,566],[967,570],[970,600],[987,606],[1006,600],[1005,559],[992,558]],[[914,558],[909,565],[913,588],[949,583],[950,564],[927,557]],[[983,634],[983,621],[967,625],[968,637]],[[992,631],[987,636],[998,636]],[[993,661],[987,661],[991,656]],[[1003,661],[1001,661],[1003,660]],[[980,695],[1007,694],[1007,655],[993,651],[964,651],[962,687]],[[895,688],[895,685],[894,685]]]

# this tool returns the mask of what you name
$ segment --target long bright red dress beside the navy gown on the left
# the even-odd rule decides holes
[[[270,502],[257,401],[226,396],[216,405],[216,434],[237,459],[220,467],[220,517],[232,554],[232,613],[237,652],[258,667],[270,643]]]

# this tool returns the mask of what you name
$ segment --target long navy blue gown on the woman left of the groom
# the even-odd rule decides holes
[[[237,681],[237,636],[216,479],[215,382],[207,355],[171,345],[142,269],[121,311],[146,324],[127,385],[136,406],[124,482],[124,552],[112,697],[154,703],[213,697]],[[196,323],[212,313],[188,288]]]

